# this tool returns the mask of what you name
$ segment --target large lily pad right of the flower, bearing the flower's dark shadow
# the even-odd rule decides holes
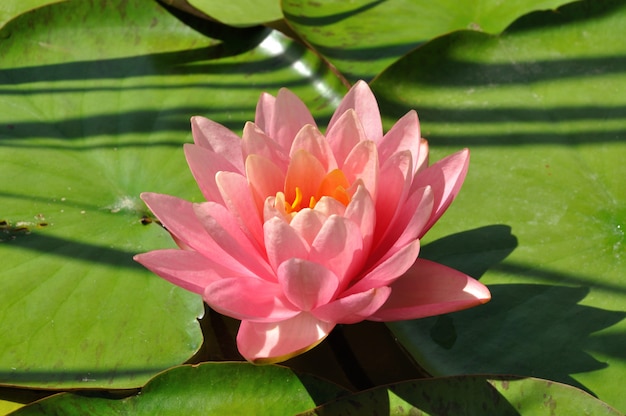
[[[433,374],[537,376],[626,409],[624,25],[624,2],[573,3],[436,39],[374,83],[386,115],[417,109],[434,159],[472,152],[422,255],[484,273],[493,299],[391,324]]]

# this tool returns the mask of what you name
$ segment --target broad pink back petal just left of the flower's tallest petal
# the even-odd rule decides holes
[[[265,132],[285,150],[289,150],[296,134],[307,124],[316,125],[309,109],[297,95],[281,88],[276,95],[270,131]]]

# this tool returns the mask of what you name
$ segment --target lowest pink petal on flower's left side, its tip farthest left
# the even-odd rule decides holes
[[[211,283],[236,274],[196,251],[156,250],[138,254],[133,259],[162,278],[199,295]]]

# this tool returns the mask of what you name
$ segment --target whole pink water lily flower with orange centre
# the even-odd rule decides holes
[[[415,319],[490,299],[485,286],[418,259],[420,238],[465,178],[467,149],[428,167],[415,111],[383,135],[358,82],[326,135],[281,89],[263,94],[243,137],[191,120],[187,161],[207,199],[142,194],[180,246],[137,255],[159,276],[241,320],[252,362],[313,348],[337,324]]]

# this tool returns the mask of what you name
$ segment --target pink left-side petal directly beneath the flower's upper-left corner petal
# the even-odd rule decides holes
[[[191,173],[207,201],[222,202],[215,174],[219,171],[238,172],[238,169],[218,153],[194,144],[185,144],[185,157]]]

